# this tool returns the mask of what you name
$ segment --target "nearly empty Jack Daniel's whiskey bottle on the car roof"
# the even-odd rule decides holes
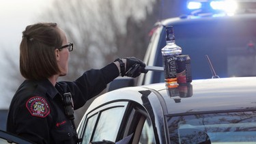
[[[182,54],[182,48],[175,44],[173,26],[166,27],[166,42],[167,45],[161,50],[165,70],[165,83],[168,87],[177,87],[175,56]]]

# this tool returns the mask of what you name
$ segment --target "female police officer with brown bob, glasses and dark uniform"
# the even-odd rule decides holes
[[[134,57],[116,59],[100,70],[88,70],[76,81],[57,82],[68,73],[72,50],[73,44],[56,23],[26,27],[20,43],[20,73],[25,81],[12,98],[8,132],[35,143],[77,143],[73,110],[98,95],[120,73],[137,77],[145,68]]]

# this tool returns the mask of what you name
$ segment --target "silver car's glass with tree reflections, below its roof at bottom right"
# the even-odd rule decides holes
[[[256,112],[168,117],[171,143],[255,143]]]

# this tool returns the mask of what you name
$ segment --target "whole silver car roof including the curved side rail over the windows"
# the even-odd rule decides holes
[[[162,109],[164,115],[256,109],[256,77],[194,80],[189,87],[180,85],[173,89],[168,89],[165,83],[125,87],[99,96],[88,110],[95,109],[100,104],[122,100],[137,102],[145,106],[145,96],[147,102],[153,107],[159,106],[158,103],[160,103],[162,108],[156,109]],[[190,91],[192,94],[181,96],[181,91],[182,93]]]

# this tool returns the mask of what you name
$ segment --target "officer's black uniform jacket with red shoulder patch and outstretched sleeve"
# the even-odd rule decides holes
[[[61,95],[70,92],[74,109],[98,95],[119,76],[114,63],[101,70],[89,70],[73,82],[58,82],[55,87],[48,79],[25,80],[10,104],[7,131],[35,143],[76,143],[76,130],[65,115]]]

